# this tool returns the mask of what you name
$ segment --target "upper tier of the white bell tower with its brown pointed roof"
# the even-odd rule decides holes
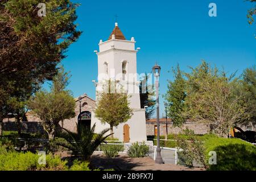
[[[137,80],[137,52],[135,40],[126,40],[118,24],[115,23],[114,30],[106,42],[99,43],[98,55],[98,84],[97,91],[102,90],[106,80],[113,80],[130,98],[130,106],[140,109],[139,82]]]

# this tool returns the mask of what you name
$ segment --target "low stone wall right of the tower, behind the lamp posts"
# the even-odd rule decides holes
[[[147,135],[155,135],[156,122],[146,122]],[[207,134],[208,126],[202,123],[186,122],[181,129],[179,127],[173,127],[172,122],[168,122],[168,134],[178,134],[181,130],[188,129],[194,130],[195,134]],[[166,134],[166,122],[160,122],[160,135]]]

